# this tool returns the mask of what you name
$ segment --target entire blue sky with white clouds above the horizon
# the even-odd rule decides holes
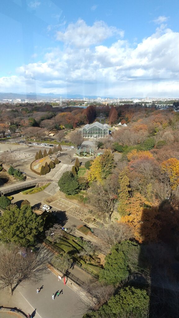
[[[179,98],[178,0],[1,0],[0,92]]]

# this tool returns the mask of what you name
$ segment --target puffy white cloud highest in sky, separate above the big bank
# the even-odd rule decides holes
[[[76,23],[70,23],[65,32],[57,31],[56,39],[64,42],[66,45],[75,45],[76,47],[88,47],[103,42],[105,39],[118,35],[124,36],[124,31],[116,27],[108,26],[104,21],[96,21],[92,26],[78,19]]]

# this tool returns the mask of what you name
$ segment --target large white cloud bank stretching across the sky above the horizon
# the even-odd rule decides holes
[[[85,24],[84,21],[82,23]],[[76,45],[77,36],[73,39],[74,45],[71,43],[61,49],[58,46],[49,49],[43,62],[18,67],[18,76],[0,78],[0,91],[21,92],[25,86],[27,92],[35,89],[42,93],[178,96],[178,32],[162,25],[135,47],[124,39],[108,46],[101,44],[93,47],[91,38],[94,29],[85,26],[84,33],[88,38],[85,46]],[[108,30],[109,27],[105,25],[105,28]],[[65,44],[70,36],[67,30],[63,33]]]

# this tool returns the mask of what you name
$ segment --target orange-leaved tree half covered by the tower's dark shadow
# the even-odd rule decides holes
[[[134,237],[140,243],[155,242],[160,231],[160,221],[157,219],[158,209],[151,207],[145,197],[136,193],[127,207],[128,215],[123,216],[120,222],[127,223],[134,231]]]

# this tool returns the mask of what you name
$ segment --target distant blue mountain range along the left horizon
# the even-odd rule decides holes
[[[48,93],[48,94],[43,94],[43,93],[0,93],[0,100],[3,99],[48,99],[48,98],[63,98],[63,99],[70,99],[70,98],[79,98],[83,99],[85,98],[91,98],[91,99],[97,99],[97,97],[101,98],[107,98],[106,96],[95,96],[95,95],[80,95],[80,94],[54,94],[54,93]],[[114,98],[114,97],[109,97],[109,98]]]

